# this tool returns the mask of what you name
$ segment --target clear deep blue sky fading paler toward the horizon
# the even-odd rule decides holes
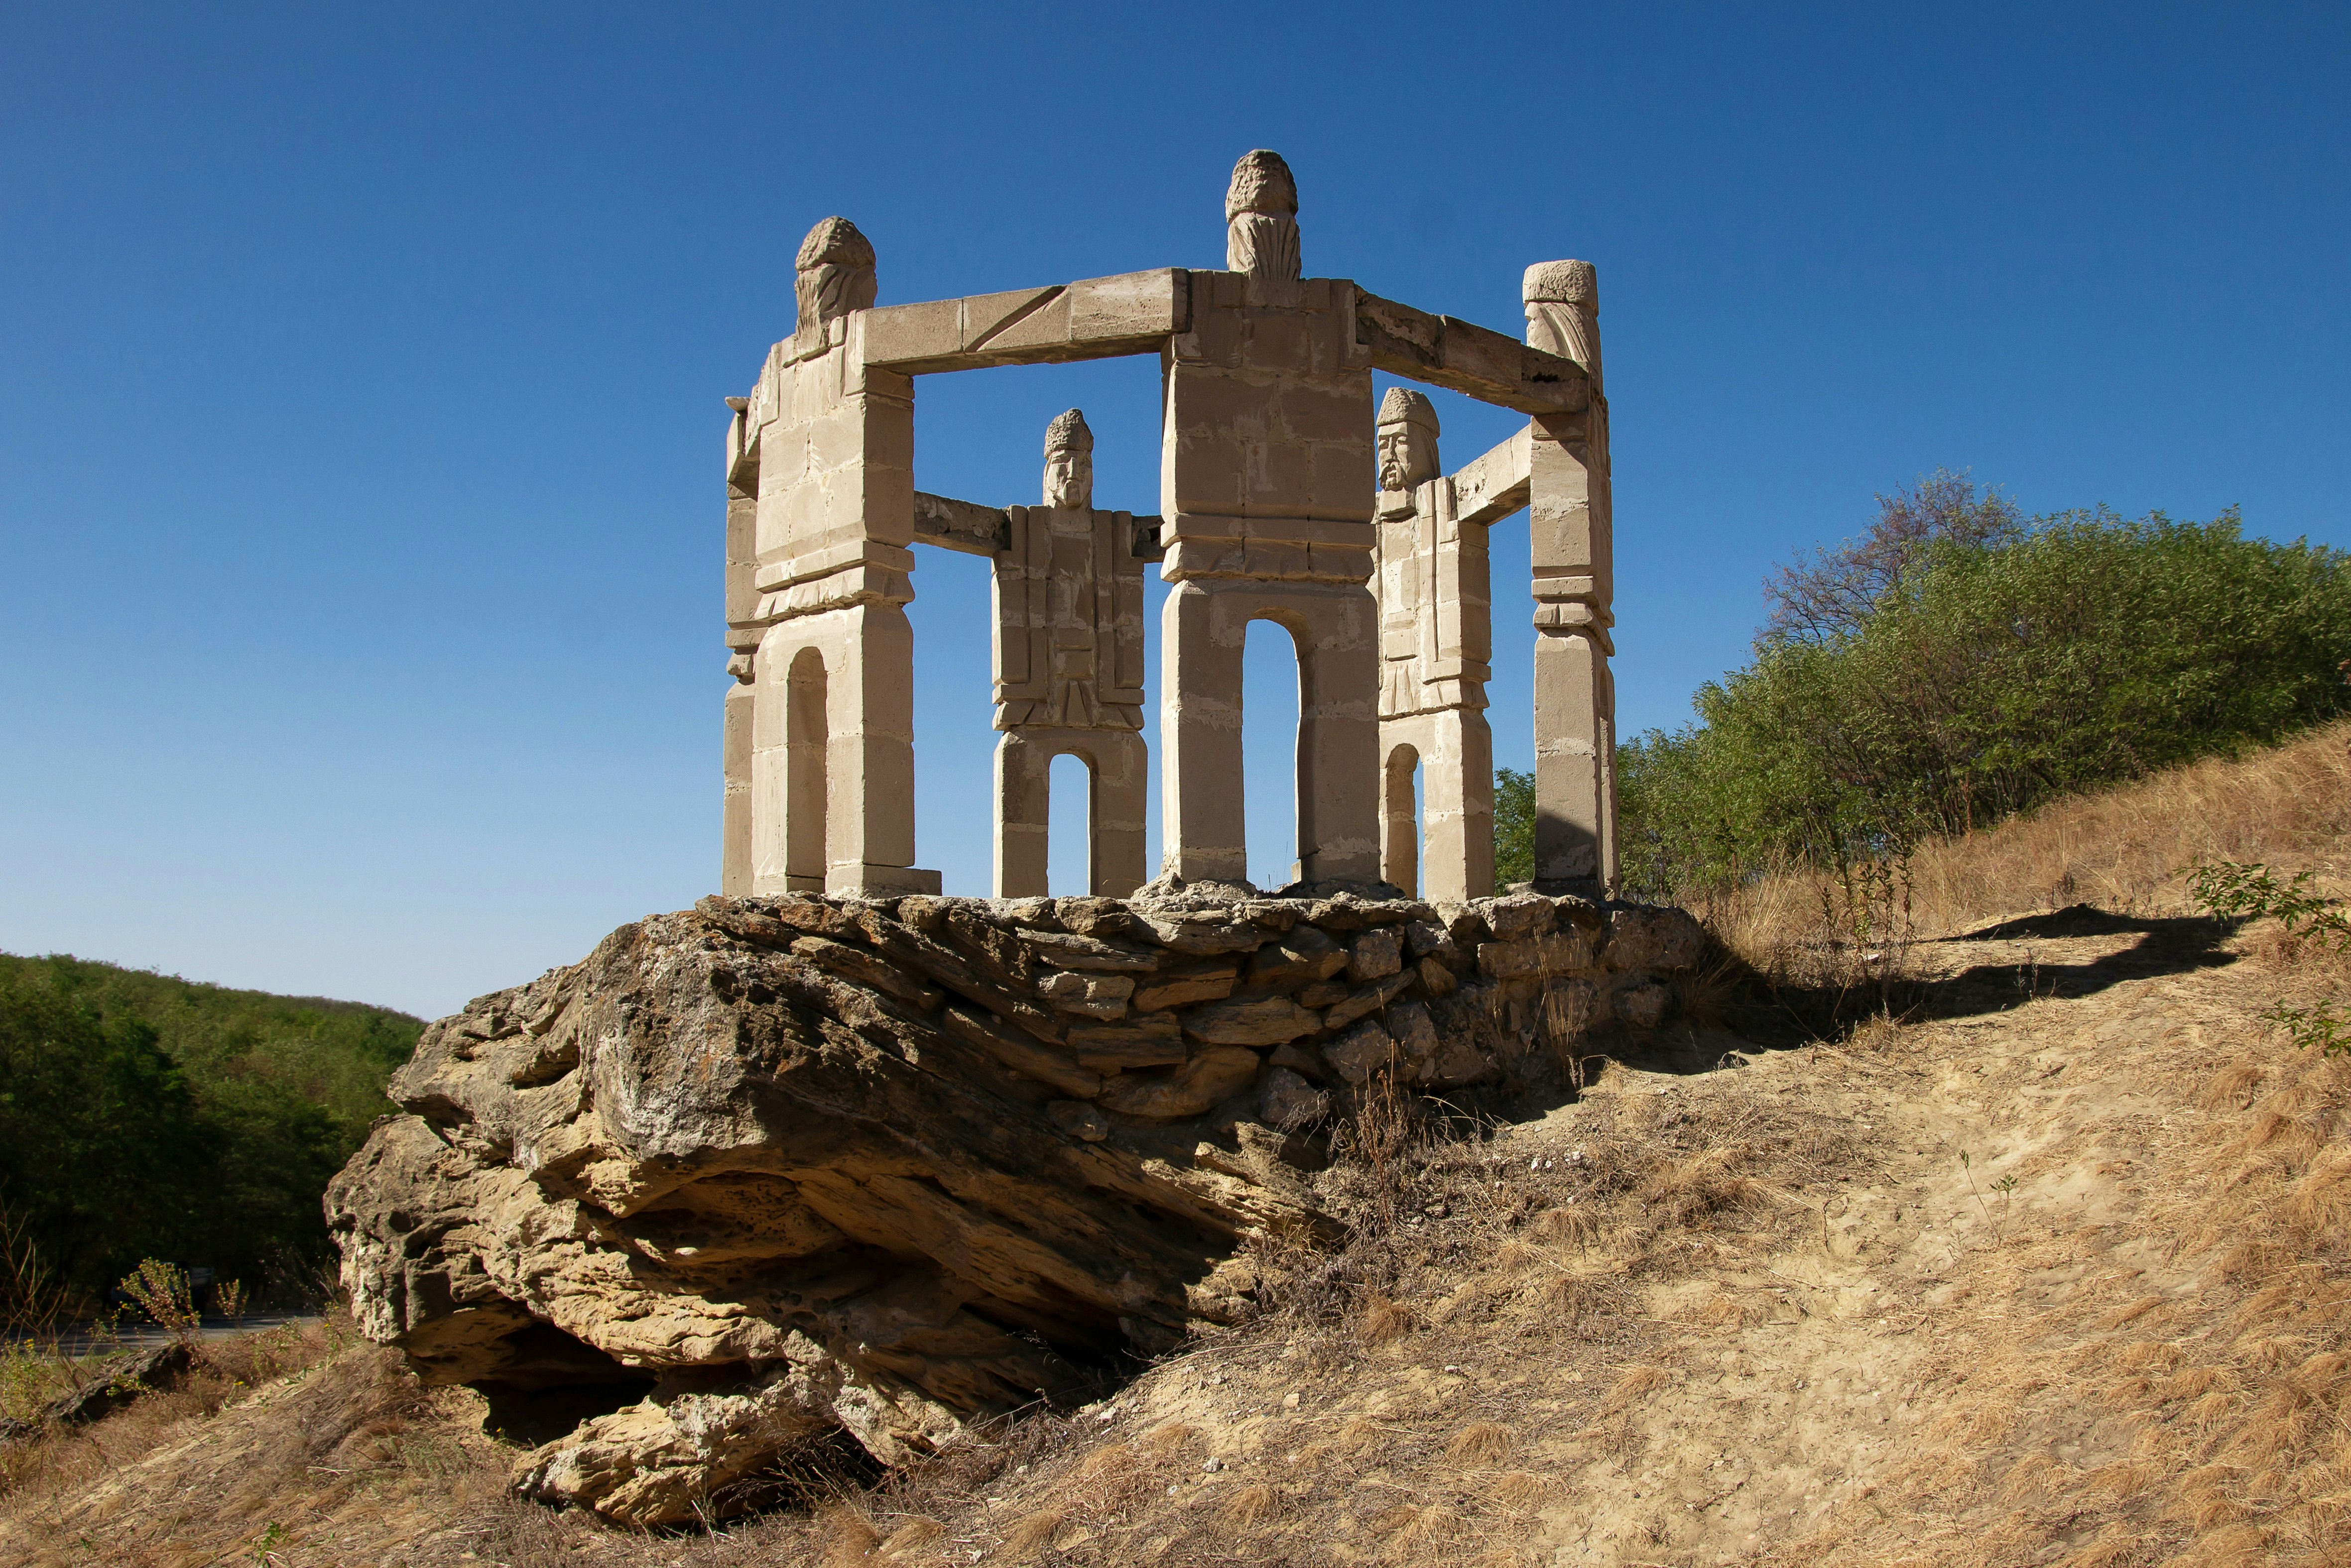
[[[1627,731],[1937,465],[2351,545],[2346,80],[2342,5],[14,0],[0,947],[440,1013],[712,891],[722,397],[828,214],[884,303],[1220,266],[1270,146],[1310,275],[1516,334],[1526,263],[1594,261]],[[1159,510],[1154,400],[924,378],[917,484],[1034,501],[1077,404],[1098,505]],[[1512,428],[1439,407],[1448,465]],[[919,860],[985,893],[985,562],[917,592]]]

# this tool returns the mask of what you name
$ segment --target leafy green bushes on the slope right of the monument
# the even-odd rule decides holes
[[[2346,705],[2346,557],[2236,512],[2024,522],[1937,475],[1770,595],[1697,722],[1620,748],[1634,893],[1871,860]]]

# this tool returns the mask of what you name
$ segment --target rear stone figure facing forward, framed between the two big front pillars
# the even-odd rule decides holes
[[[1044,505],[1006,508],[994,557],[997,898],[1046,893],[1053,757],[1091,776],[1091,893],[1143,886],[1143,559],[1128,512],[1093,510],[1093,433],[1044,433]]]

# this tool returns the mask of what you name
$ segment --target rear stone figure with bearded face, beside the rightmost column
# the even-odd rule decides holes
[[[1486,524],[1465,522],[1441,473],[1436,409],[1389,388],[1380,402],[1380,870],[1436,900],[1493,893],[1493,658]],[[1427,856],[1415,844],[1420,769]]]

